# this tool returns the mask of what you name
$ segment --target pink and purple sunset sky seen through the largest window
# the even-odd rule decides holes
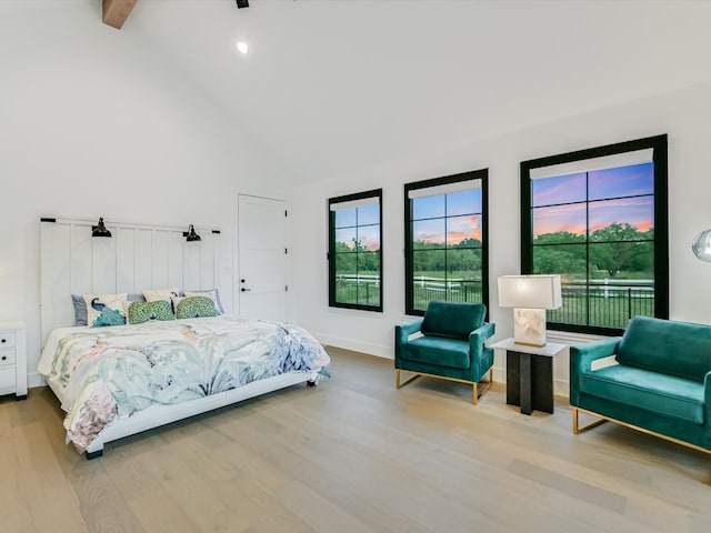
[[[590,231],[613,222],[649,230],[654,220],[652,163],[589,173]],[[585,232],[585,174],[541,178],[532,182],[533,234]],[[627,198],[620,198],[627,197]],[[611,200],[614,199],[614,200]]]

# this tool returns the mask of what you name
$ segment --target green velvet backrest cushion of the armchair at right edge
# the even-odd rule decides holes
[[[622,336],[617,359],[621,364],[703,383],[711,371],[711,326],[635,316]]]

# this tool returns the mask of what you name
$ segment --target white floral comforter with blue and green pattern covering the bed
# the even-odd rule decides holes
[[[306,330],[232,315],[53,330],[38,364],[83,452],[118,419],[233,390],[288,372],[329,375]]]

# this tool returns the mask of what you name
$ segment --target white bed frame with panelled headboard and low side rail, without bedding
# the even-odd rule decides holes
[[[218,288],[220,232],[196,228],[199,242],[187,242],[186,228],[106,222],[113,237],[91,238],[96,221],[41,219],[42,343],[54,328],[73,325],[71,294],[138,293],[143,289]],[[153,405],[107,425],[87,447],[87,457],[103,454],[106,443],[170,424],[242,400],[308,382],[320,374],[289,372],[218,394],[172,405]],[[62,401],[59,391],[54,394]]]

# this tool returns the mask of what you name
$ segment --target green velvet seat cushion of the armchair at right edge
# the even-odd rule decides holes
[[[580,391],[651,413],[703,424],[701,383],[615,364],[580,374]]]

